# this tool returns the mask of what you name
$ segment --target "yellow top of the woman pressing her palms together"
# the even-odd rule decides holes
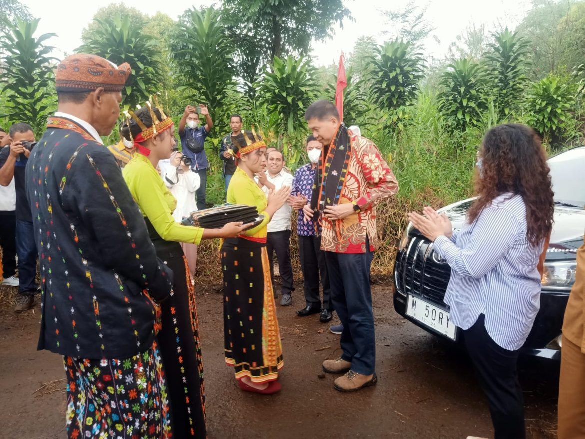
[[[260,189],[256,181],[250,179],[248,174],[239,167],[229,183],[228,203],[256,206],[260,214],[264,215],[264,221],[253,229],[246,230],[244,235],[253,239],[266,239],[268,223],[270,222],[270,216],[266,213],[268,205],[266,194]]]

